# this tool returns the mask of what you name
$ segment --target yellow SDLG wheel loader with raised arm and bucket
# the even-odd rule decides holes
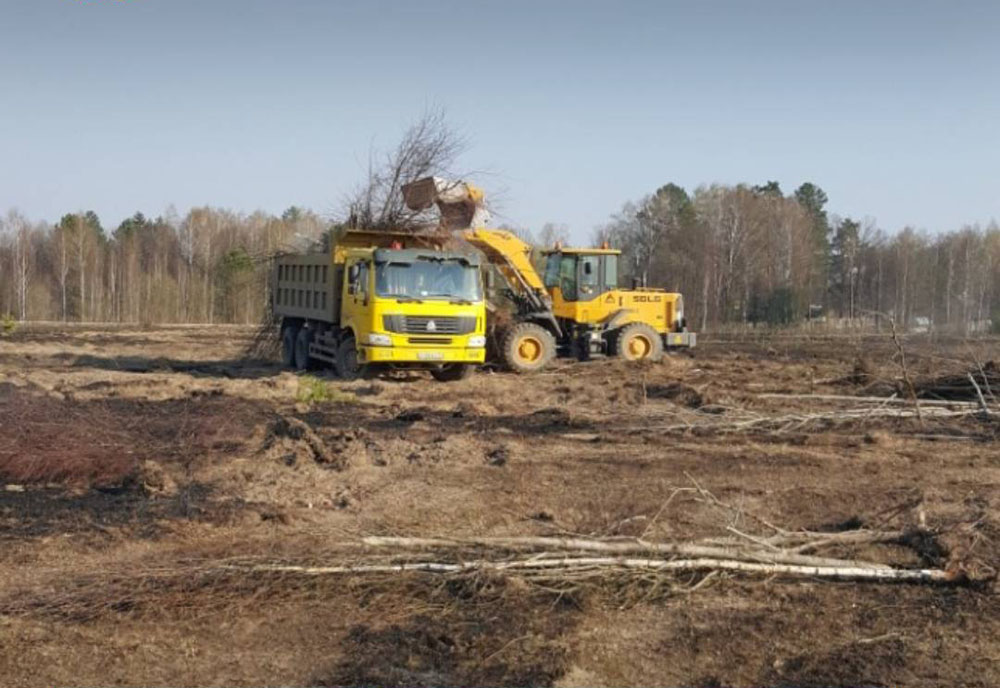
[[[621,251],[557,245],[544,252],[545,271],[539,274],[531,245],[485,227],[488,215],[477,187],[427,177],[405,185],[403,194],[412,210],[436,204],[441,227],[482,251],[504,277],[514,320],[497,328],[495,338],[500,358],[514,372],[541,370],[557,355],[655,361],[667,349],[695,345],[680,294],[619,287]]]

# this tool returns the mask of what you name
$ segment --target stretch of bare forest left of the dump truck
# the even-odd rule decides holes
[[[113,230],[93,212],[58,223],[0,218],[0,314],[19,320],[255,323],[270,258],[327,228],[296,207],[281,217],[193,208],[136,213]]]

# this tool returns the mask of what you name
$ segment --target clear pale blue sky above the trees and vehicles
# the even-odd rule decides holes
[[[429,105],[500,218],[673,181],[1000,219],[1000,2],[0,0],[0,209],[338,208]]]

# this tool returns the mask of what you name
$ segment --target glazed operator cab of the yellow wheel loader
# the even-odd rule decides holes
[[[563,301],[590,301],[618,288],[620,251],[561,249],[545,253],[545,288]]]

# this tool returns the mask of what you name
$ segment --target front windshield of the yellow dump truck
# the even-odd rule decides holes
[[[482,300],[479,268],[458,260],[380,263],[375,268],[375,293],[397,299]]]

